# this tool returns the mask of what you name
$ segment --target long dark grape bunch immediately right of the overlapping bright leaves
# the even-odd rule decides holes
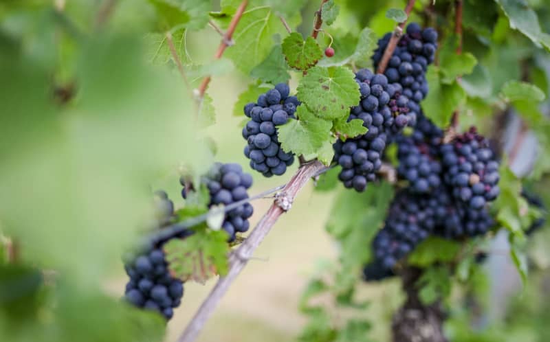
[[[375,173],[382,166],[382,154],[386,148],[387,132],[398,133],[409,122],[409,115],[416,116],[406,107],[408,99],[399,95],[386,76],[373,74],[368,69],[355,73],[361,100],[351,108],[348,121],[361,119],[368,129],[364,135],[334,144],[334,160],[342,166],[338,175],[345,187],[362,192],[368,182],[375,180]]]

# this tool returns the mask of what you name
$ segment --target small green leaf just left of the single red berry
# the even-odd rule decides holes
[[[292,32],[283,41],[283,54],[288,65],[298,70],[307,70],[317,64],[322,51],[317,41],[308,36],[304,41],[302,34]]]

